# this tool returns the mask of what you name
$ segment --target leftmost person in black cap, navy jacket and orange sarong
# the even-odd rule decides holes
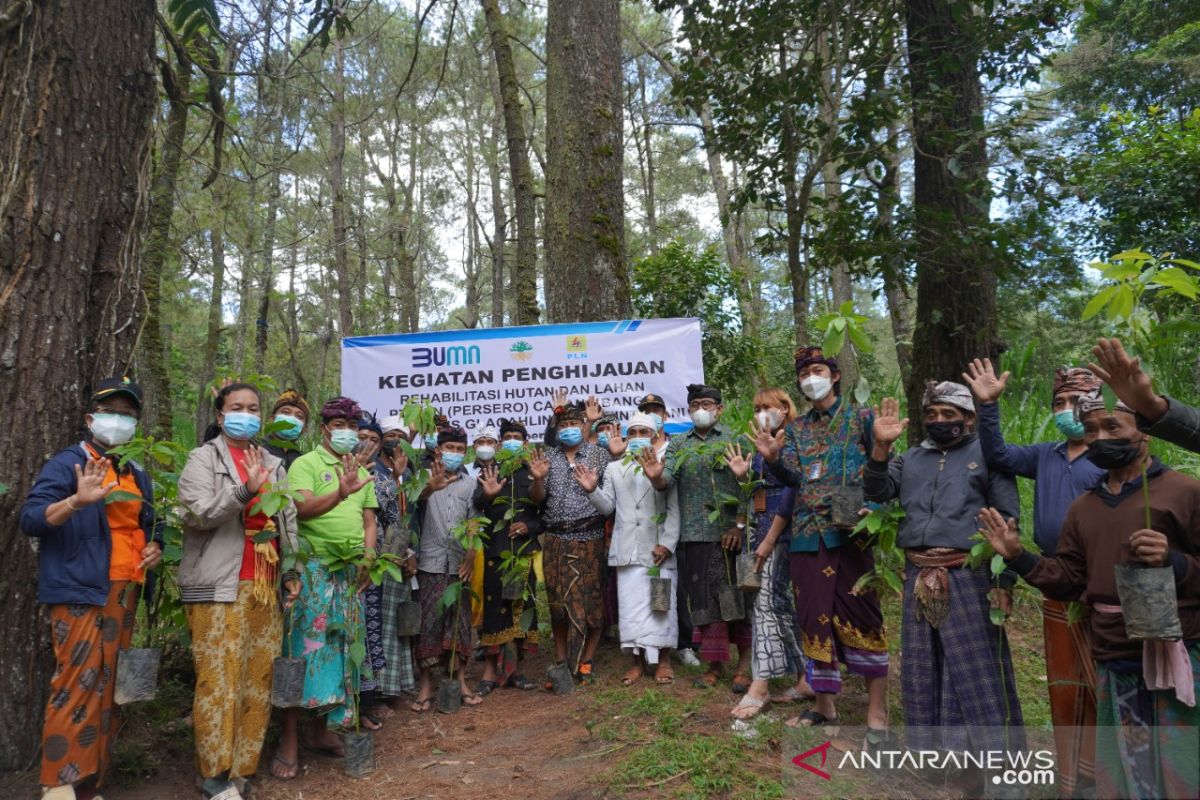
[[[100,381],[86,438],[47,462],[20,510],[22,531],[38,541],[37,599],[54,632],[40,778],[50,800],[94,798],[104,780],[120,718],[113,681],[89,675],[115,673],[133,636],[137,587],[162,558],[150,477],[108,452],[133,438],[140,411],[137,384]],[[106,504],[112,491],[136,499]]]

